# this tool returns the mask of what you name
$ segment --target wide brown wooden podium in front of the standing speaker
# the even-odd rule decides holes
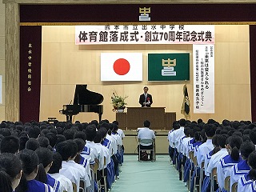
[[[165,113],[165,107],[127,107],[127,113],[117,113],[116,120],[124,130],[137,130],[145,120],[150,121],[152,130],[170,130],[176,113]]]

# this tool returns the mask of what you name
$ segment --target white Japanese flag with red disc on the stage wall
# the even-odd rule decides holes
[[[101,81],[142,81],[142,53],[102,53]]]

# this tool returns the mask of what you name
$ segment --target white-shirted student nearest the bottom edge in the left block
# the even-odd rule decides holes
[[[72,182],[69,178],[66,178],[64,175],[59,173],[59,170],[62,168],[62,155],[60,155],[58,152],[54,152],[53,155],[53,163],[50,166],[50,170],[48,171],[48,174],[50,177],[55,178],[59,182],[61,182],[61,185],[63,186],[63,189],[66,191],[73,191]]]

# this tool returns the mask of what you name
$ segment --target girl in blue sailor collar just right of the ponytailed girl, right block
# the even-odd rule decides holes
[[[238,182],[242,175],[247,174],[250,171],[250,166],[248,166],[247,159],[249,155],[254,152],[255,146],[253,142],[243,142],[240,151],[242,156],[242,162],[234,165],[230,170],[230,191],[234,182]]]

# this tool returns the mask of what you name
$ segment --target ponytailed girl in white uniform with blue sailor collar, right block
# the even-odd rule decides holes
[[[242,161],[240,156],[240,146],[242,145],[242,138],[238,136],[230,136],[227,138],[226,149],[228,150],[229,155],[222,158],[217,165],[217,178],[218,178],[218,187],[220,190],[224,190],[224,181],[227,176],[230,176],[230,170],[232,166]]]

